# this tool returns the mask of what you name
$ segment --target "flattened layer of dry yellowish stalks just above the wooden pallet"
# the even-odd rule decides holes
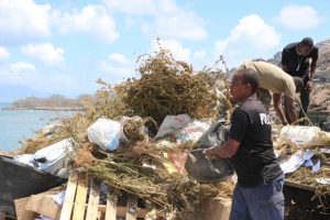
[[[167,172],[163,163],[173,162],[162,156],[163,153],[191,150],[193,144],[162,151],[157,150],[155,145],[156,143],[139,142],[131,148],[107,154],[106,158],[100,160],[88,151],[79,151],[77,158],[79,165],[87,167],[90,175],[105,180],[116,189],[145,199],[154,208],[166,211],[176,210],[177,213],[180,213],[189,208],[198,209],[201,199],[231,195],[232,184],[229,182],[198,183],[189,178],[187,174],[179,175]],[[154,165],[156,168],[145,167],[144,164]]]

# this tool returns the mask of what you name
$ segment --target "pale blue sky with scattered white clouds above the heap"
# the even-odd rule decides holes
[[[0,0],[0,86],[92,94],[97,78],[136,75],[157,37],[195,69],[221,54],[231,68],[304,36],[329,38],[329,9],[328,0]]]

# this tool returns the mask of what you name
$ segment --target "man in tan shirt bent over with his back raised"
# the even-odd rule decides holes
[[[286,124],[287,121],[297,121],[297,112],[295,109],[295,95],[302,87],[302,80],[298,77],[292,77],[279,67],[266,62],[245,62],[240,68],[251,68],[256,72],[260,80],[260,86],[256,95],[268,109],[273,94],[274,109],[282,121]],[[288,107],[288,117],[286,120],[282,109],[282,94],[286,97],[285,101]]]

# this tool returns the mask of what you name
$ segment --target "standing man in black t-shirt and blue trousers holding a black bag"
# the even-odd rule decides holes
[[[230,90],[239,107],[232,114],[229,140],[205,150],[207,158],[232,158],[238,184],[230,220],[284,219],[284,174],[273,150],[270,116],[255,95],[257,87],[253,69],[233,75]]]

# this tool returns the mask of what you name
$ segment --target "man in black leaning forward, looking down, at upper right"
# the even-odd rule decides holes
[[[301,42],[290,43],[282,52],[282,68],[290,76],[297,76],[304,80],[304,89],[300,91],[301,107],[299,118],[307,113],[309,106],[309,94],[311,90],[312,77],[317,68],[319,50],[314,46],[310,37]],[[304,111],[304,112],[302,112]],[[287,113],[287,110],[286,110]]]

